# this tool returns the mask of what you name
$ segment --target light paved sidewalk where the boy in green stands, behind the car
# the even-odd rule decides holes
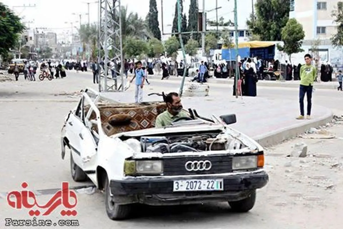
[[[151,92],[178,92],[175,89],[147,85],[144,90],[144,101],[161,100],[156,95],[147,96]],[[131,87],[124,93],[104,92],[104,97],[118,102],[133,102],[134,89]],[[236,99],[223,92],[211,91],[208,97],[182,97],[184,108],[196,109],[201,116],[212,114],[236,114],[237,123],[232,127],[257,140],[262,146],[275,145],[283,140],[304,133],[310,127],[326,124],[332,119],[332,112],[326,107],[314,104],[311,120],[296,120],[299,115],[298,101],[275,100],[258,97]]]

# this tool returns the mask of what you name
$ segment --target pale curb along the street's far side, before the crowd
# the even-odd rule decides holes
[[[72,70],[74,71],[74,70]],[[75,71],[76,72],[76,71]],[[92,75],[92,72],[87,71],[87,72],[82,72],[79,71],[79,74],[88,74]],[[158,80],[160,81],[161,76],[158,75],[149,75],[148,76],[149,80]],[[173,81],[171,83],[179,83],[181,81],[182,77],[175,77],[171,76],[169,77],[168,81]],[[186,77],[186,81],[189,80],[189,77]],[[315,82],[314,88],[315,89],[335,89],[337,90],[338,87],[338,82],[336,82],[336,79],[332,79],[334,81],[332,82]],[[217,79],[217,78],[210,78],[208,83],[211,84],[216,84],[216,85],[233,85],[234,80],[233,79]],[[259,80],[257,82],[257,85],[260,87],[282,87],[282,88],[299,88],[299,83],[300,81],[271,81],[271,80]]]

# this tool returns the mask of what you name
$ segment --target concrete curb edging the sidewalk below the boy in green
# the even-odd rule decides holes
[[[253,137],[253,139],[257,141],[262,147],[269,147],[280,144],[281,142],[287,139],[297,137],[300,134],[304,134],[305,131],[310,129],[311,127],[317,128],[319,126],[323,126],[332,121],[333,113],[326,107],[322,108],[328,110],[327,114],[319,118],[312,119],[310,122],[307,122],[306,124],[302,124],[301,122],[303,121],[299,120],[298,124],[285,127],[281,130],[273,131],[269,134],[258,135]]]

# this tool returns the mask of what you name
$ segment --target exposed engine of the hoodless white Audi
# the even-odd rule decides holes
[[[201,152],[227,149],[241,149],[243,143],[226,134],[183,135],[168,137],[141,137],[141,152]]]

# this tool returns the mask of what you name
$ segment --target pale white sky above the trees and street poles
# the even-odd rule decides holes
[[[90,4],[90,22],[97,22],[98,19],[98,4],[94,3],[96,0],[0,0],[4,4],[8,5],[9,8],[14,10],[21,17],[24,17],[26,26],[30,28],[50,28],[58,34],[71,30],[70,22],[73,22],[73,26],[79,27],[81,16],[81,23],[87,23],[88,15],[86,2],[92,2]],[[184,13],[188,15],[190,0],[184,1]],[[202,0],[199,1],[199,9],[202,10]],[[251,6],[252,0],[237,0],[237,11],[238,11],[238,27],[244,28],[246,25],[246,19],[252,11]],[[254,0],[256,1],[256,0]],[[162,32],[162,16],[161,16],[161,0],[156,0],[159,25]],[[175,13],[176,0],[163,0],[163,25],[164,33],[171,32],[171,24],[173,23]],[[28,6],[36,5],[36,7],[23,8],[23,5]],[[149,12],[149,0],[121,0],[122,6],[127,6],[129,11],[137,12],[143,19]],[[234,21],[234,0],[217,0],[218,7],[218,18],[223,16],[225,21]],[[205,0],[205,10],[212,10],[216,8],[215,0]],[[76,14],[76,15],[73,15]],[[187,16],[188,17],[188,16]],[[209,20],[216,19],[215,10],[207,13]]]

